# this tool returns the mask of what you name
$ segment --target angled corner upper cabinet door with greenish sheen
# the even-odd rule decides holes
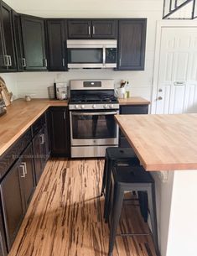
[[[44,20],[22,15],[23,50],[27,71],[46,70]]]

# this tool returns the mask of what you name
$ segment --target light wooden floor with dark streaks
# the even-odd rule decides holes
[[[106,256],[103,164],[100,159],[49,160],[9,256]],[[148,231],[138,206],[125,204],[120,228],[127,227]],[[113,256],[155,256],[150,236],[116,241]]]

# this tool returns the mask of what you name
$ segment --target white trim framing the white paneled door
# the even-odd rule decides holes
[[[153,68],[153,89],[151,97],[150,113],[156,113],[157,91],[158,91],[158,72],[160,60],[161,35],[163,28],[197,28],[197,21],[194,20],[159,20],[156,27],[156,40],[154,52],[154,68]]]

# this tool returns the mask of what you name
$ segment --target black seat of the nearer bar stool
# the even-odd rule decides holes
[[[152,175],[143,166],[116,166],[113,169],[114,181],[126,183],[154,183]]]

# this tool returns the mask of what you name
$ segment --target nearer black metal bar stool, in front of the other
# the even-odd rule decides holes
[[[151,219],[153,243],[157,255],[158,250],[158,227],[156,214],[155,186],[153,177],[144,170],[142,166],[118,166],[116,165],[111,172],[111,188],[110,188],[110,239],[109,253],[112,255],[115,239],[117,235],[148,235],[146,233],[127,233],[117,234],[117,225],[119,223],[122,212],[122,201],[124,193],[127,191],[147,191],[148,208]]]

